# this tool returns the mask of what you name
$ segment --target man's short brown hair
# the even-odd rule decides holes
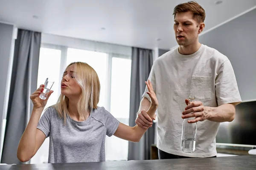
[[[177,13],[191,11],[194,14],[194,18],[198,21],[198,23],[203,23],[205,19],[205,11],[197,2],[189,1],[187,3],[180,3],[175,6],[173,10],[174,17]]]

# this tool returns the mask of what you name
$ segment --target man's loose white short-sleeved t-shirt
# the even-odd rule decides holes
[[[152,82],[159,103],[157,148],[179,156],[216,156],[215,137],[220,123],[209,120],[198,122],[195,152],[186,153],[180,147],[181,113],[189,95],[209,107],[241,102],[230,60],[203,44],[191,55],[182,55],[175,48],[155,60],[148,79]],[[143,97],[150,101],[148,94],[144,93]]]

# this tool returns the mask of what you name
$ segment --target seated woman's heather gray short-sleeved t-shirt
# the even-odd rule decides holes
[[[47,108],[38,122],[49,137],[48,163],[105,161],[105,137],[112,136],[119,121],[103,107],[91,111],[83,122],[58,116],[55,108]]]

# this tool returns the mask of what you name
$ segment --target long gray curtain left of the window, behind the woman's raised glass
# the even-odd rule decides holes
[[[29,96],[37,88],[40,44],[41,33],[18,30],[1,163],[21,163],[17,146],[32,111]]]

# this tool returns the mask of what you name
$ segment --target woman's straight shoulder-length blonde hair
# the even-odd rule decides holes
[[[70,65],[74,65],[74,78],[82,90],[77,103],[78,113],[79,116],[85,117],[85,113],[90,113],[92,109],[98,107],[100,93],[99,77],[96,71],[87,63],[72,62],[67,68]],[[61,94],[55,105],[58,115],[64,119],[64,124],[66,124],[67,116],[69,116],[68,103],[69,99],[67,96]]]

